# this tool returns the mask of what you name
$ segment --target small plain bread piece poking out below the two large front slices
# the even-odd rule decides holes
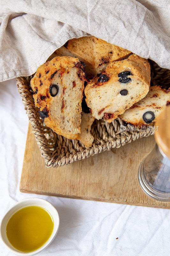
[[[87,148],[92,146],[94,137],[91,134],[91,126],[94,122],[94,117],[91,113],[81,112],[81,133],[78,134],[78,140],[80,140]]]

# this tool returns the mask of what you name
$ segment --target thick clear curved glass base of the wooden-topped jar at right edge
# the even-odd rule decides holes
[[[144,175],[144,161],[145,159],[140,163],[139,169],[138,169],[138,180],[139,184],[142,188],[142,190],[153,199],[156,199],[158,201],[170,201],[170,192],[161,192],[155,188],[153,188],[149,182],[146,180],[146,177]]]

